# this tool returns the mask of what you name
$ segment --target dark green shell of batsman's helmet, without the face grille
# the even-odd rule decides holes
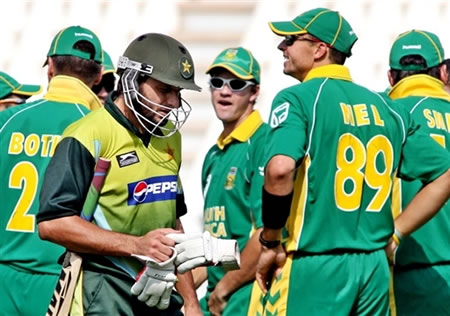
[[[183,89],[200,91],[194,81],[194,62],[187,48],[176,39],[158,33],[139,36],[119,58],[118,71],[132,68]]]

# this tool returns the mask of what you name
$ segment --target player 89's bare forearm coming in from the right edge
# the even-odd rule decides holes
[[[395,220],[395,228],[407,236],[425,224],[450,198],[450,169],[427,184]]]

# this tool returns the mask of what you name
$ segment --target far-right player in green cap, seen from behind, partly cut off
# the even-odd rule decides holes
[[[439,37],[423,30],[400,34],[392,45],[389,97],[401,101],[423,132],[450,151],[450,95],[444,49]],[[426,161],[428,164],[429,161]],[[394,216],[424,183],[402,180]],[[400,241],[394,257],[397,315],[450,315],[450,203],[428,223]]]

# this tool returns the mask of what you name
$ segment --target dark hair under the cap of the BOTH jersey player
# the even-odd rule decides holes
[[[92,86],[101,72],[101,65],[93,60],[95,47],[88,41],[78,41],[73,46],[75,49],[89,53],[92,60],[76,56],[53,56],[51,57],[57,75],[68,75],[80,79],[86,85]]]

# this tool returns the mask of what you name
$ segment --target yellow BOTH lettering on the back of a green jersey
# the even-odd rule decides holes
[[[25,153],[29,157],[35,155],[52,157],[60,139],[61,135],[33,133],[25,136],[22,133],[14,132],[9,140],[8,154],[20,155]]]

